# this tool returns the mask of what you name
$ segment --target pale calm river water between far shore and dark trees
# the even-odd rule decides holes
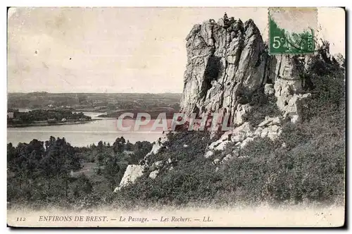
[[[85,115],[93,119],[101,113],[84,112]],[[7,142],[14,146],[19,142],[30,142],[33,139],[45,141],[50,136],[65,137],[71,145],[82,147],[89,144],[97,144],[99,141],[115,142],[117,137],[124,137],[134,143],[137,141],[154,142],[161,137],[162,132],[122,132],[116,128],[116,119],[102,118],[99,121],[77,125],[51,125],[51,126],[32,126],[25,128],[7,128]]]

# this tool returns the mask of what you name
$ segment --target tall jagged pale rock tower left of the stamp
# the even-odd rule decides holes
[[[264,43],[253,20],[209,20],[194,25],[187,40],[187,70],[181,109],[206,113],[223,109],[234,114],[239,97],[258,89],[265,77]]]

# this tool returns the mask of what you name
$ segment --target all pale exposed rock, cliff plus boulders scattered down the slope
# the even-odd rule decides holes
[[[213,164],[225,164],[234,157],[241,157],[241,149],[257,137],[276,140],[282,133],[282,122],[289,118],[295,123],[301,117],[301,106],[311,94],[312,66],[325,65],[344,68],[341,55],[329,54],[329,44],[321,41],[317,53],[308,55],[269,55],[258,27],[253,20],[242,23],[240,19],[220,18],[196,24],[186,37],[187,68],[184,73],[184,90],[181,110],[188,116],[212,112],[230,114],[232,130],[223,133],[208,145],[204,156],[209,158],[216,151],[223,151],[227,144],[234,144],[232,154],[218,154]],[[253,110],[251,97],[256,92],[275,97],[281,114],[266,116],[256,125],[246,121]],[[172,170],[172,160],[150,163],[151,157],[165,148],[164,136],[154,143],[141,165],[127,167],[120,187],[132,183],[149,168],[149,178],[159,176],[161,170]],[[184,145],[188,147],[188,145]],[[285,144],[282,144],[285,147]],[[151,164],[151,165],[149,165]],[[217,168],[218,170],[218,168]],[[164,170],[165,171],[165,170]]]

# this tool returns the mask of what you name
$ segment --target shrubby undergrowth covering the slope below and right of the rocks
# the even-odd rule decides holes
[[[313,97],[302,106],[303,121],[285,123],[278,140],[256,139],[241,150],[241,157],[215,171],[213,159],[203,157],[206,145],[200,141],[204,137],[201,133],[173,135],[169,149],[158,154],[156,159],[160,160],[161,156],[172,158],[175,152],[180,155],[199,153],[181,156],[172,171],[162,171],[154,180],[148,175],[139,178],[137,183],[118,193],[115,206],[194,202],[343,204],[346,156],[344,70],[325,70],[322,75],[313,68],[306,74],[315,87],[310,90]],[[257,120],[249,118],[248,121]],[[193,139],[199,139],[199,142],[194,144]],[[189,145],[189,149],[184,144]],[[231,153],[232,147],[229,144],[225,151]]]

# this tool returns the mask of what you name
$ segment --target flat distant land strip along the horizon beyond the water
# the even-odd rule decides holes
[[[8,109],[70,108],[111,113],[121,109],[180,109],[182,94],[8,93]]]

